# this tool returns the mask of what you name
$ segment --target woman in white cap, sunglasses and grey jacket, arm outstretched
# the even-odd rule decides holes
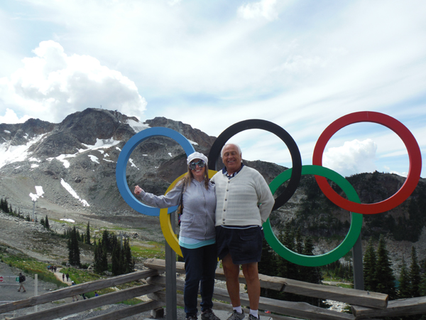
[[[197,319],[198,287],[202,297],[201,319],[219,320],[213,313],[212,297],[217,266],[216,232],[214,228],[216,196],[209,181],[207,156],[194,152],[187,157],[187,174],[165,196],[146,193],[139,186],[134,193],[149,206],[177,206],[182,197],[179,245],[185,260],[183,299],[187,320]]]

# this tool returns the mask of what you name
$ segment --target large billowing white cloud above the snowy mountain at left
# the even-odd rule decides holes
[[[102,106],[136,116],[146,109],[146,100],[134,82],[96,58],[67,55],[55,41],[40,42],[33,53],[35,57],[24,58],[23,68],[10,79],[0,79],[0,94],[9,106],[0,115],[4,122],[22,122],[28,116],[60,122],[87,107]],[[16,110],[26,115],[18,117]]]

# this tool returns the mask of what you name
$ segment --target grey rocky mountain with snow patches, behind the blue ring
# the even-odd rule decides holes
[[[158,117],[141,123],[135,117],[102,109],[75,112],[59,124],[40,119],[0,124],[2,196],[21,208],[31,208],[28,194],[42,186],[43,200],[58,206],[82,206],[102,214],[131,210],[116,187],[116,161],[124,144],[148,127],[174,129],[204,154],[215,139],[182,122]],[[129,185],[141,183],[147,191],[164,193],[185,172],[185,158],[172,139],[148,139],[131,154],[126,169]]]

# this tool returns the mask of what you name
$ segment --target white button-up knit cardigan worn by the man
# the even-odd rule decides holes
[[[261,174],[243,166],[233,178],[219,171],[211,180],[216,185],[216,226],[262,225],[275,203]]]

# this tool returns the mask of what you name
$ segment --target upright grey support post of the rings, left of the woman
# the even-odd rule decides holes
[[[175,213],[170,213],[173,232],[175,232]],[[178,319],[178,302],[176,298],[176,252],[165,243],[165,318]]]

